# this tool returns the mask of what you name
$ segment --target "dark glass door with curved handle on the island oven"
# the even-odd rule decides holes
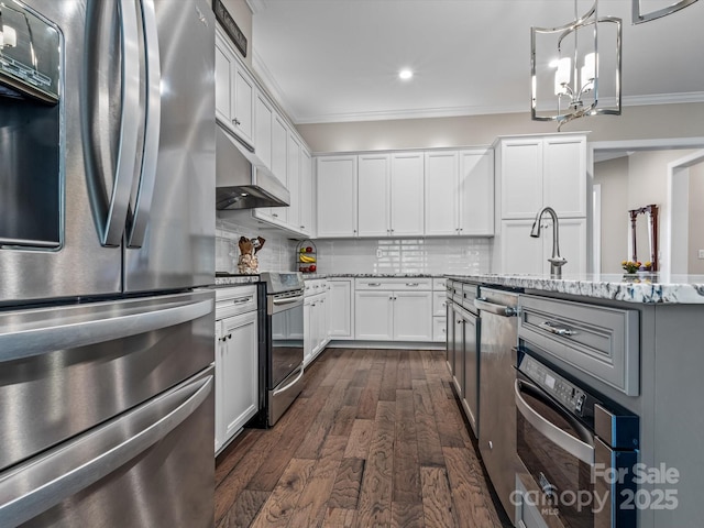
[[[593,528],[594,436],[541,388],[518,374],[515,384],[517,451],[524,508],[549,527]],[[527,526],[527,525],[526,525]]]

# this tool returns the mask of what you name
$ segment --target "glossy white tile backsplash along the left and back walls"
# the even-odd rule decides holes
[[[257,253],[260,271],[295,270],[297,241],[274,230],[251,228],[218,220],[216,224],[216,271],[237,273],[240,237],[266,239]],[[487,273],[490,239],[336,239],[316,240],[318,273]]]

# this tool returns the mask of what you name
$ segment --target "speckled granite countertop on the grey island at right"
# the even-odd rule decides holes
[[[514,288],[569,294],[595,299],[639,304],[704,304],[704,275],[646,275],[624,278],[618,274],[549,275],[472,274],[446,275],[448,278]]]

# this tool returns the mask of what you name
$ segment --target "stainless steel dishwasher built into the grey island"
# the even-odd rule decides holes
[[[474,299],[480,310],[480,452],[504,506],[515,519],[510,503],[516,490],[516,346],[518,344],[518,294],[480,288]]]

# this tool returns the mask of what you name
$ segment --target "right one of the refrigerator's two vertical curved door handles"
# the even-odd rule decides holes
[[[150,222],[154,185],[156,183],[156,160],[162,122],[161,52],[156,26],[154,0],[141,0],[144,21],[144,57],[146,61],[146,122],[144,124],[144,152],[134,212],[128,224],[128,248],[142,248]]]

